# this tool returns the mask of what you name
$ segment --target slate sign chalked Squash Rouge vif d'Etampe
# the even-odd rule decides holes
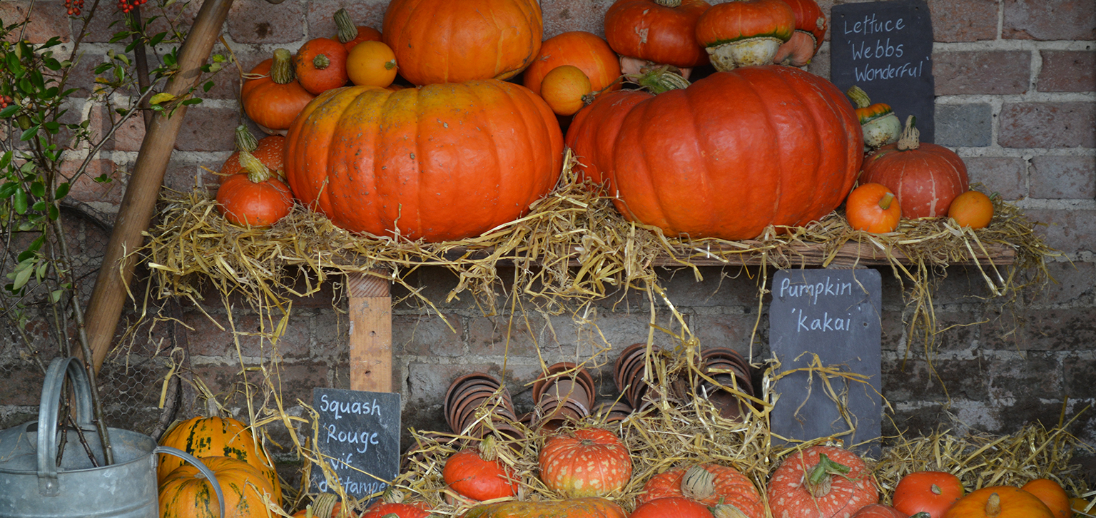
[[[400,470],[400,394],[317,388],[312,407],[317,449],[343,491],[355,498],[385,491]],[[335,493],[319,467],[310,476],[320,493]]]

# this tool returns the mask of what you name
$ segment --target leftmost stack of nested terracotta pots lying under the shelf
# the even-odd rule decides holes
[[[517,415],[510,391],[498,378],[486,372],[472,372],[453,380],[445,393],[444,413],[446,423],[456,434],[482,438],[498,431],[503,439],[525,437],[513,425]]]

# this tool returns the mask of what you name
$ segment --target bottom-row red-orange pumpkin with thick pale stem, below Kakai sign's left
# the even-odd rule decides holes
[[[707,475],[697,470],[707,472]],[[637,504],[667,496],[686,496],[709,507],[732,505],[749,517],[765,516],[761,494],[753,482],[727,465],[698,464],[665,471],[648,480],[643,491],[636,498]]]

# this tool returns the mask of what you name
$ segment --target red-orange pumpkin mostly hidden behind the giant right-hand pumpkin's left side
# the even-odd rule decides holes
[[[567,147],[579,161],[575,171],[579,180],[590,179],[613,194],[608,171],[613,168],[613,153],[620,123],[632,106],[654,95],[641,90],[618,90],[597,95],[571,119],[567,128]]]

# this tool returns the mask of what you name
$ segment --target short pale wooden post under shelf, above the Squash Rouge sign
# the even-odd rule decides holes
[[[350,388],[392,392],[392,297],[390,283],[369,274],[351,274]]]

